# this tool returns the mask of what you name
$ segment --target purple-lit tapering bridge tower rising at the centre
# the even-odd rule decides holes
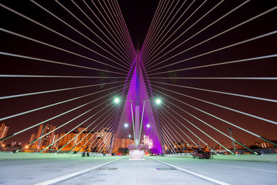
[[[123,113],[120,118],[120,125],[118,126],[116,136],[126,134],[127,132],[134,133],[133,138],[136,145],[141,143],[140,138],[143,138],[143,135],[149,136],[153,141],[152,148],[156,150],[155,152],[162,152],[161,142],[152,112],[152,102],[148,98],[149,89],[146,89],[149,87],[145,86],[145,80],[141,71],[142,64],[139,49],[136,50],[136,54],[137,57],[136,60],[134,60],[133,65],[134,73],[132,74],[131,82],[129,82],[130,84],[126,100],[123,100],[125,105],[123,107]],[[123,127],[123,124],[125,123],[130,125],[130,127]],[[131,125],[133,125],[133,127]],[[150,125],[150,127],[147,125]]]

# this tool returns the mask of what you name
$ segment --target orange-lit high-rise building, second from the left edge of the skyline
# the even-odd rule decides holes
[[[39,130],[37,131],[37,134],[31,134],[30,136],[30,142],[35,141],[30,147],[32,148],[37,148],[37,149],[42,149],[45,148],[46,146],[50,145],[53,143],[53,137],[55,134],[55,126],[53,125],[39,125]],[[53,132],[52,132],[53,131]],[[50,134],[48,134],[51,132]],[[44,136],[47,134],[46,136]]]

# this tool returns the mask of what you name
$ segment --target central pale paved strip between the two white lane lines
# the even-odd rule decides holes
[[[145,161],[129,161],[125,157],[97,170],[91,170],[61,184],[211,184],[204,179],[181,172],[145,157]]]

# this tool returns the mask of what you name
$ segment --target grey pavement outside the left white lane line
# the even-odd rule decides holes
[[[36,184],[120,158],[117,156],[80,157],[80,155],[57,159],[1,160],[0,158],[0,184]]]

